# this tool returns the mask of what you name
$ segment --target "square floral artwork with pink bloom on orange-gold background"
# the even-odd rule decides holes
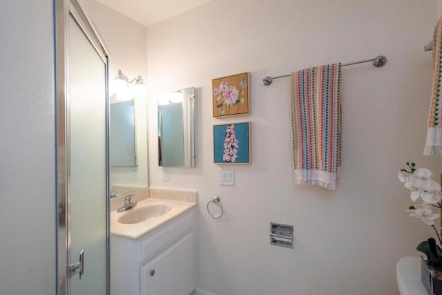
[[[249,73],[212,80],[213,117],[249,114]]]

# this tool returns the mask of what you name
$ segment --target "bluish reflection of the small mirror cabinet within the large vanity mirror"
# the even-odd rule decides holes
[[[133,99],[111,104],[109,157],[111,166],[137,166]]]

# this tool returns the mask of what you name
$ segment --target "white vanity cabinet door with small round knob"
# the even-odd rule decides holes
[[[195,289],[193,232],[140,268],[140,294],[188,295]]]

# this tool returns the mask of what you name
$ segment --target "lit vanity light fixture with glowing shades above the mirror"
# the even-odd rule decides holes
[[[129,79],[122,70],[117,70],[117,75],[112,82],[111,93],[117,100],[129,100],[133,97],[146,97],[146,84],[139,75],[129,82]]]

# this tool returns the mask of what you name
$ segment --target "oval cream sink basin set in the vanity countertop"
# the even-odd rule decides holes
[[[120,216],[117,222],[124,225],[145,222],[152,218],[158,218],[171,211],[172,205],[165,202],[155,202],[144,206],[135,207]]]

